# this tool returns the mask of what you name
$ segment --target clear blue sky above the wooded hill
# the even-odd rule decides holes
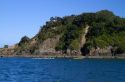
[[[125,0],[0,0],[0,47],[32,38],[50,17],[105,9],[125,17]]]

